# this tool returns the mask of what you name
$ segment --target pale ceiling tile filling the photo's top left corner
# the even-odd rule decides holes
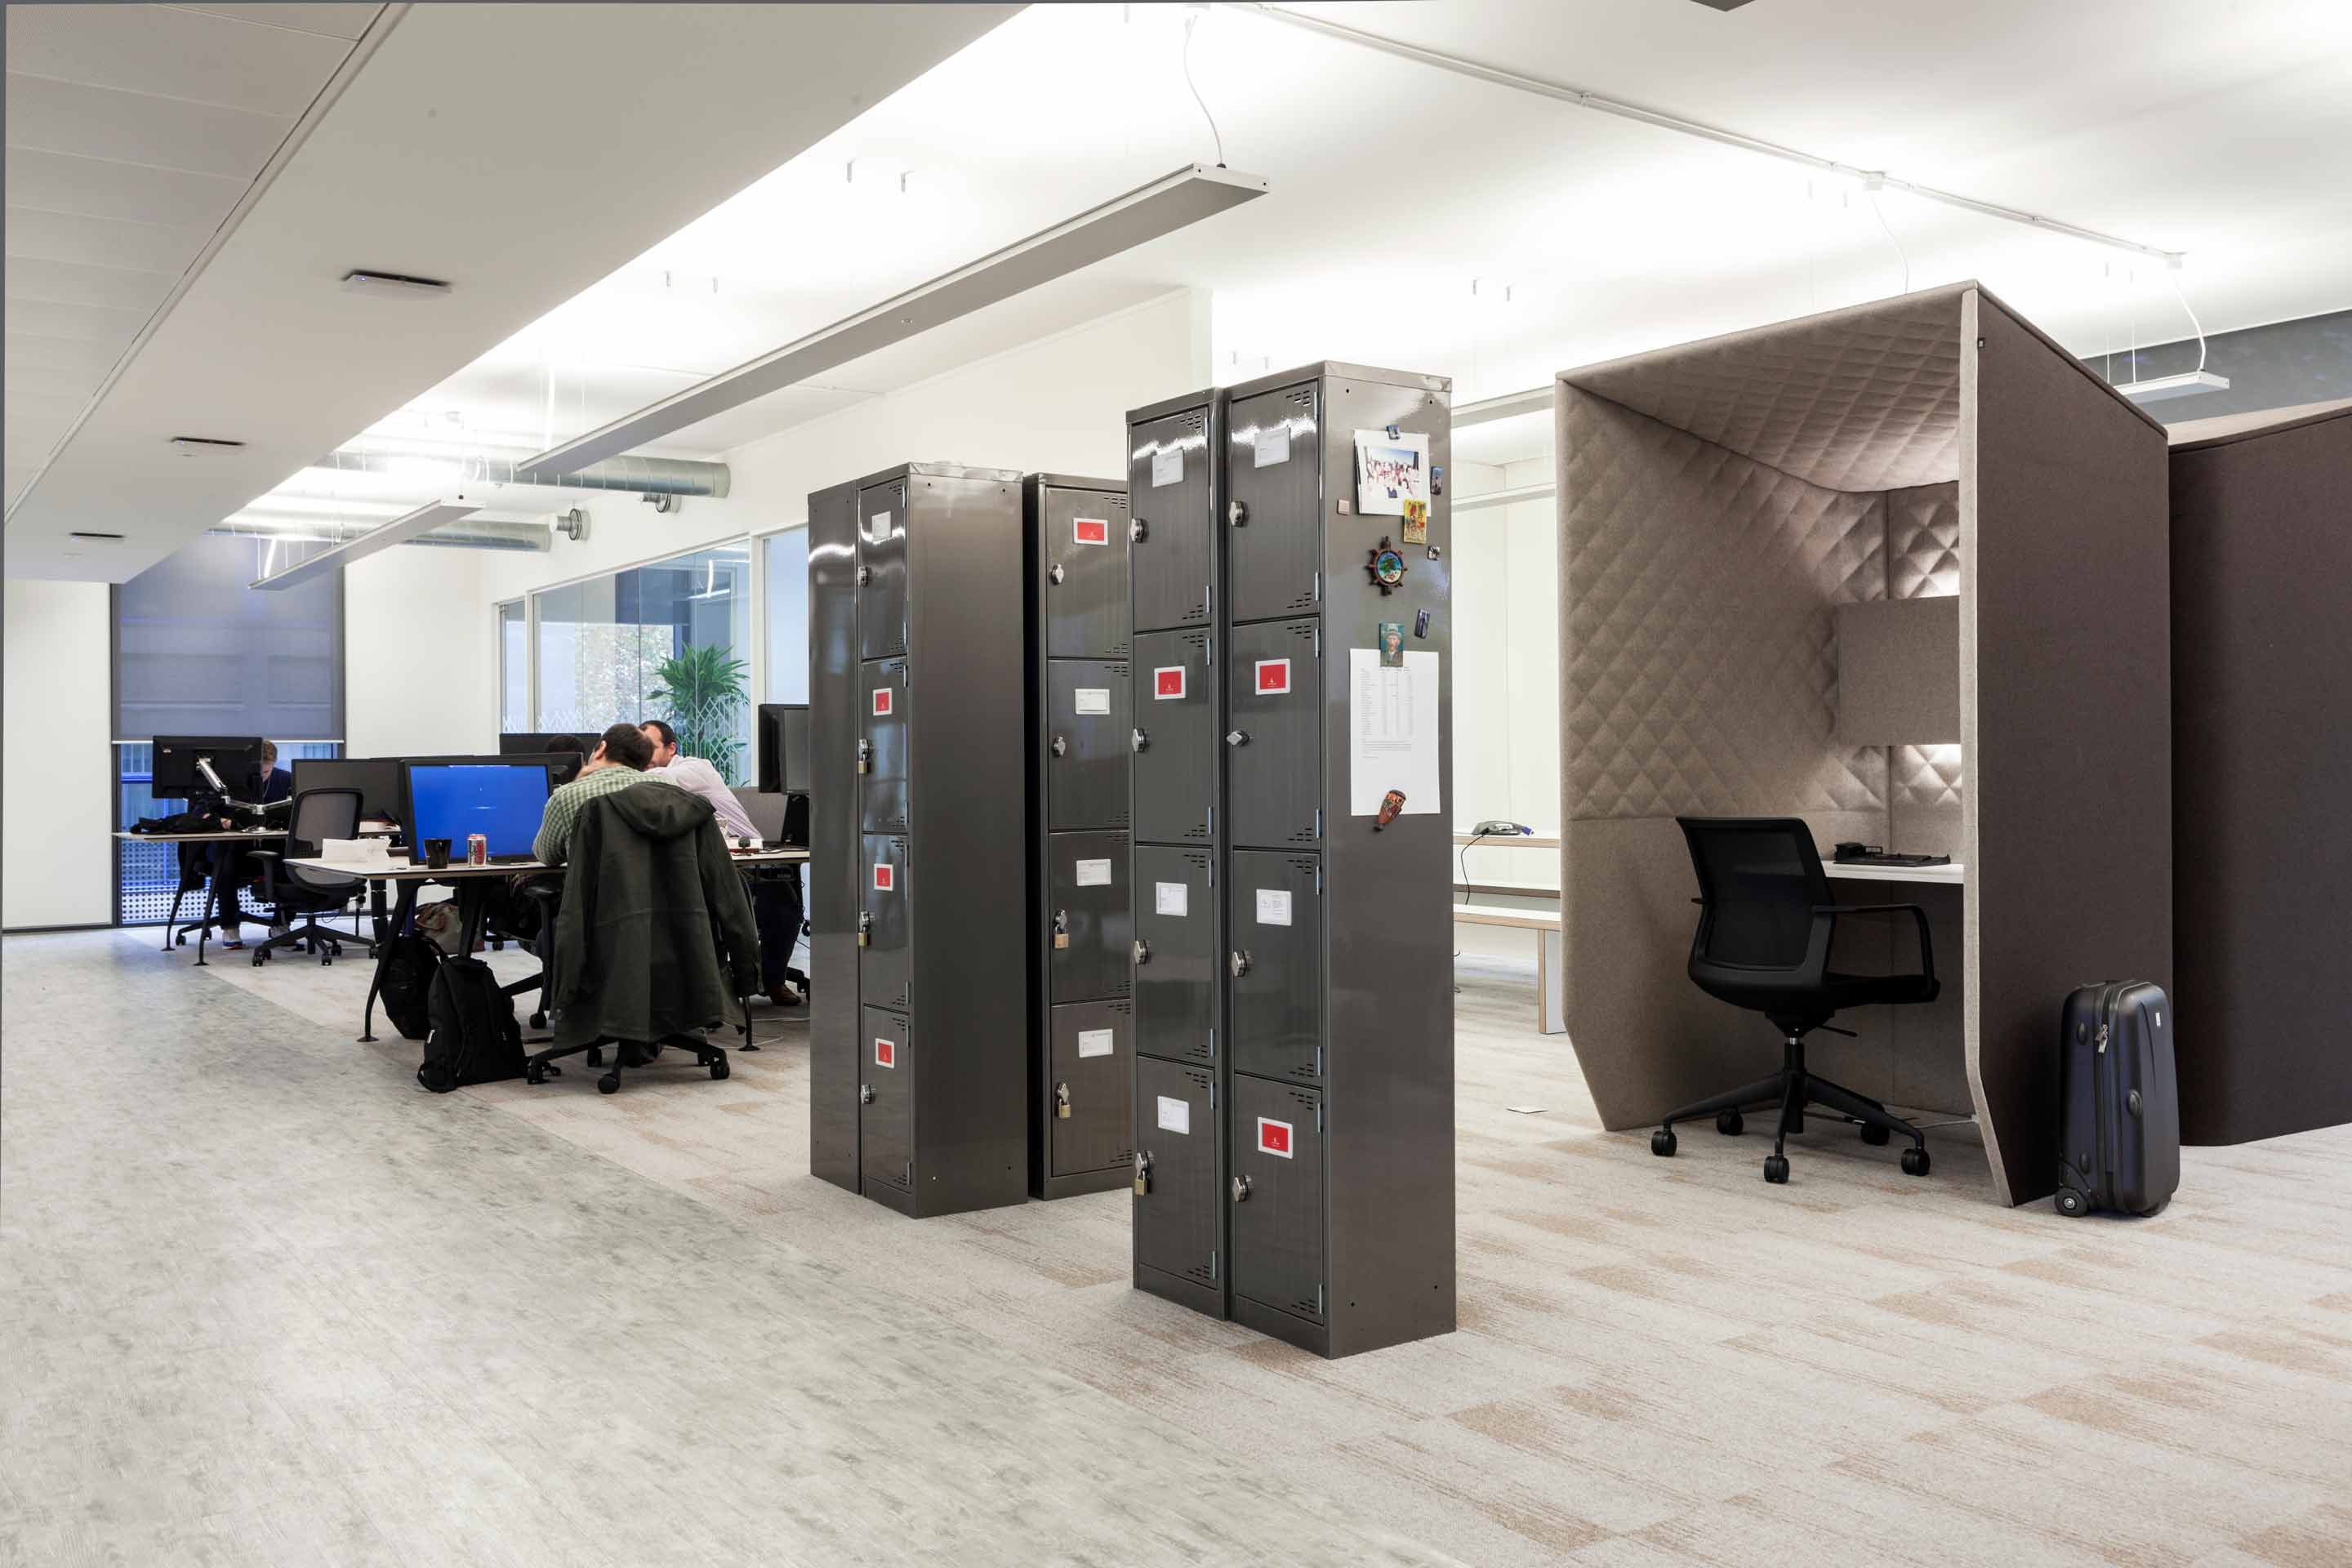
[[[12,73],[301,115],[350,42],[160,5],[12,5]]]

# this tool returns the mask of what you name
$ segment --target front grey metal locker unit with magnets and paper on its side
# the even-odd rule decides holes
[[[1442,376],[1315,364],[1129,416],[1136,1284],[1324,1356],[1454,1328],[1449,404]],[[1192,416],[1197,489],[1162,458]],[[1425,437],[1425,520],[1359,505],[1359,435],[1376,463]],[[1190,609],[1195,536],[1197,618],[1145,630]],[[1207,705],[1155,726],[1188,637]],[[1176,936],[1162,900],[1216,929]]]

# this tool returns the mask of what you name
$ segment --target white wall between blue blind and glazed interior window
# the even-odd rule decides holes
[[[499,750],[487,559],[485,550],[393,545],[343,569],[346,757]]]

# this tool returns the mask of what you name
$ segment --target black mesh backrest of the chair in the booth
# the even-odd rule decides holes
[[[1698,875],[1691,964],[1797,971],[1830,903],[1813,830],[1792,816],[1677,816]]]

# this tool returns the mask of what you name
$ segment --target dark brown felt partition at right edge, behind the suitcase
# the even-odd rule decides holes
[[[2180,1135],[2336,1126],[2352,1121],[2352,407],[2180,440],[2171,515]]]

